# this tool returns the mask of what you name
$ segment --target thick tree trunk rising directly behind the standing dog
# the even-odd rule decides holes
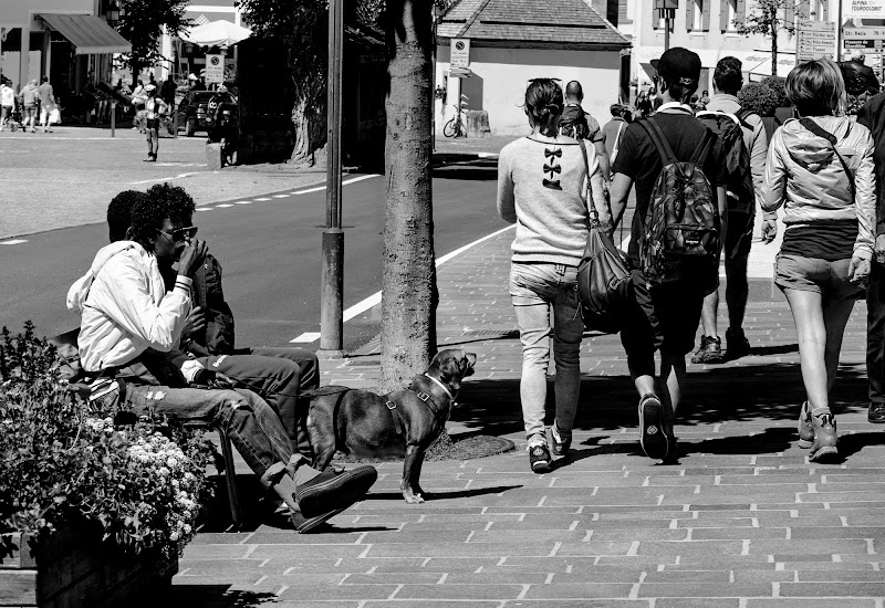
[[[430,198],[433,0],[389,0],[387,206],[382,279],[382,392],[402,388],[436,350],[436,261]]]

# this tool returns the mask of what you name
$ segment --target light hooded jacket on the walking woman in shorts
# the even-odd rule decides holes
[[[830,143],[790,119],[771,138],[762,208],[774,211],[783,206],[787,230],[821,220],[856,218],[854,252],[868,260],[876,223],[873,137],[868,128],[844,116],[812,119],[836,137],[836,148],[854,174],[854,200],[850,178]]]

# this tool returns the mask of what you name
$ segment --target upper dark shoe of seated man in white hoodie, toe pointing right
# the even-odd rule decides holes
[[[357,467],[343,473],[323,471],[295,491],[304,517],[344,510],[361,500],[378,479],[372,467]],[[330,515],[331,517],[331,515]]]

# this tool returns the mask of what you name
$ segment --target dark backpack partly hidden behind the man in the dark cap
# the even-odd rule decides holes
[[[698,112],[695,117],[719,136],[721,161],[728,171],[728,209],[752,214],[756,211],[756,192],[750,169],[750,151],[743,143],[743,129],[753,130],[746,122],[752,114],[738,108],[735,114],[720,111]]]

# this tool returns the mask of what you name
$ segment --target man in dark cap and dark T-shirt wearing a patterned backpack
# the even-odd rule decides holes
[[[688,105],[698,87],[700,57],[669,49],[658,73],[664,103],[654,116],[625,129],[610,193],[617,226],[636,184],[627,252],[635,303],[621,342],[639,394],[642,448],[649,458],[671,461],[678,455],[673,420],[685,386],[685,356],[695,346],[704,296],[718,279],[727,176],[720,171],[717,136]],[[660,350],[658,386],[655,350]]]

